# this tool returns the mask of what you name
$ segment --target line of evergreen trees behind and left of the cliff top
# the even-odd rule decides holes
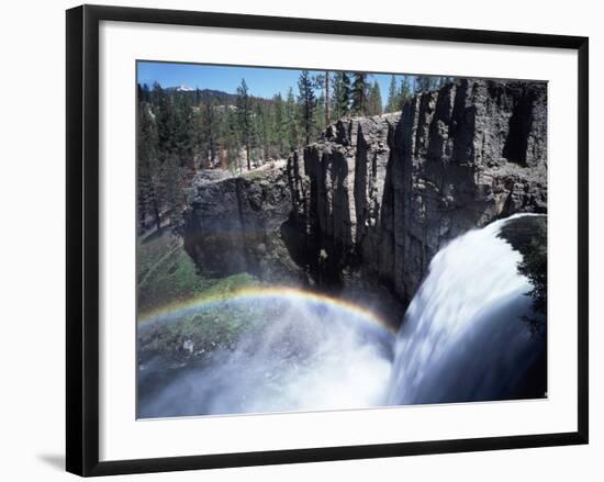
[[[395,112],[449,78],[392,76],[387,101],[370,74],[302,70],[283,97],[138,85],[137,202],[141,231],[175,224],[199,168],[249,170],[316,141],[333,121]]]

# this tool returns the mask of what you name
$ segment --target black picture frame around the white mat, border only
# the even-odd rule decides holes
[[[101,21],[534,46],[578,52],[577,431],[99,461],[99,23]],[[79,475],[333,461],[588,444],[589,38],[413,25],[82,5],[67,11],[67,444]]]

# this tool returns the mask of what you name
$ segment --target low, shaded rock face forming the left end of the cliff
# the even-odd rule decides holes
[[[209,182],[195,180],[186,213],[184,249],[209,276],[251,272],[304,279],[286,239],[291,238],[291,190],[282,168]]]

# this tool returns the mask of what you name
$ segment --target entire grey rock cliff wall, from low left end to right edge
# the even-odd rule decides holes
[[[338,121],[283,169],[199,184],[184,238],[204,269],[407,302],[445,243],[515,212],[547,212],[547,85],[461,80]]]

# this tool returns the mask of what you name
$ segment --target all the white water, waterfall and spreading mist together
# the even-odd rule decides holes
[[[227,301],[266,307],[262,323],[210,365],[170,371],[159,391],[141,391],[156,373],[139,370],[139,416],[544,396],[546,338],[523,322],[532,313],[530,284],[518,273],[521,254],[501,237],[524,216],[444,247],[396,336],[367,311],[297,290]]]

